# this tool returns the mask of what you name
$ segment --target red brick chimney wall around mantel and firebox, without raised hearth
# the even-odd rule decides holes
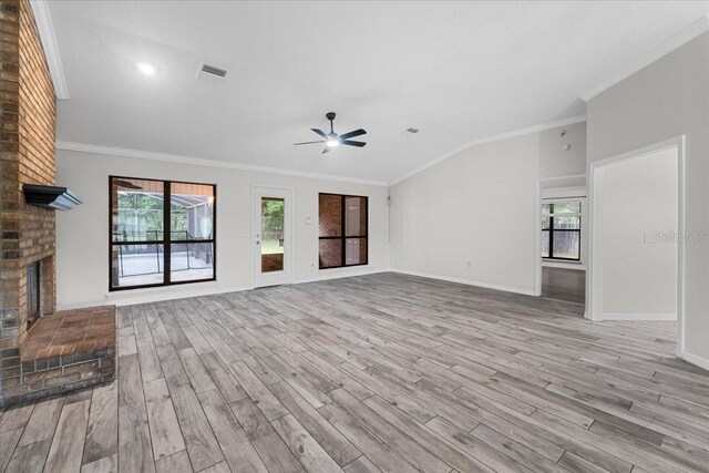
[[[55,307],[54,210],[29,206],[23,184],[55,184],[55,94],[28,0],[0,1],[0,390],[27,337],[25,267],[42,260],[42,315]],[[1,392],[0,392],[1,399]]]

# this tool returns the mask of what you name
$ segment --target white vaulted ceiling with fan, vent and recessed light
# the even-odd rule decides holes
[[[579,96],[709,13],[709,2],[49,7],[70,93],[58,140],[383,182],[464,143],[584,114]],[[226,79],[198,81],[202,62]],[[366,128],[368,145],[292,146],[317,140],[309,128],[328,111],[340,133]]]

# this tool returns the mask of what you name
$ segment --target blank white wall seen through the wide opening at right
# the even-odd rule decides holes
[[[676,319],[677,151],[600,167],[594,187],[594,319]]]

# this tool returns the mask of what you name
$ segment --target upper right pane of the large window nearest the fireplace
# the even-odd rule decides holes
[[[173,241],[214,238],[214,186],[172,183],[169,225]]]

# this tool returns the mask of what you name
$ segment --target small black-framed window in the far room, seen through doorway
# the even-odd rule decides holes
[[[542,204],[542,257],[580,261],[580,202]]]

